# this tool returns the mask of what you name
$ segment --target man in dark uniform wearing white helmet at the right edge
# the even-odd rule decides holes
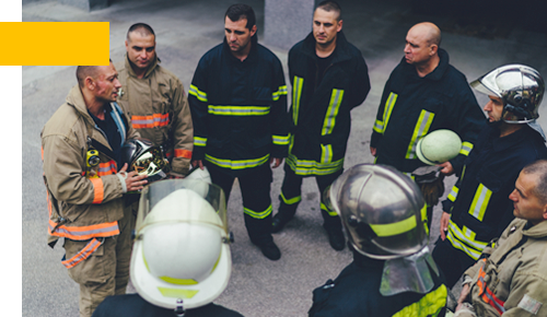
[[[536,121],[545,91],[542,75],[524,64],[499,67],[470,83],[487,94],[488,122],[443,201],[433,258],[452,287],[514,219],[509,195],[521,169],[547,157]]]

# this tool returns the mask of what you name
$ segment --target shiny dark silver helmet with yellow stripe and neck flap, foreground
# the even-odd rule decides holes
[[[422,222],[426,206],[412,179],[391,166],[358,164],[325,191],[340,215],[353,249],[385,260],[380,293],[426,294],[439,270],[429,253]]]

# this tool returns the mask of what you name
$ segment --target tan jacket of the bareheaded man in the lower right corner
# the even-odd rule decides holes
[[[547,316],[547,221],[515,219],[482,255],[465,272],[477,316]]]

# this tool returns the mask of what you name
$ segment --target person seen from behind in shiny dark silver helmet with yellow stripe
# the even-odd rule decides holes
[[[428,248],[420,189],[391,166],[360,164],[325,191],[353,262],[313,292],[310,317],[444,316],[447,292]]]

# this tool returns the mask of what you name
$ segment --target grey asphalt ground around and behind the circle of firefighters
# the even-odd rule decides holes
[[[261,40],[264,2],[246,2],[257,13]],[[432,21],[441,26],[442,47],[449,51],[451,63],[466,74],[468,81],[510,62],[529,64],[547,75],[545,32],[507,23],[485,26],[480,20],[475,21],[475,25],[464,25],[454,16],[417,14],[404,0],[339,2],[345,10],[346,36],[361,49],[372,82],[368,98],[352,111],[346,168],[373,161],[369,142],[383,86],[403,57],[406,32],[415,23]],[[126,0],[89,13],[57,2],[36,2],[23,7],[23,21],[108,21],[110,57],[115,62],[125,54],[127,28],[136,22],[149,23],[156,33],[156,51],[162,66],[178,75],[188,89],[199,58],[222,40],[223,14],[232,3],[222,0]],[[485,11],[480,16],[487,15]],[[92,45],[90,43],[90,47]],[[287,73],[288,51],[269,48],[280,58]],[[75,67],[23,67],[23,316],[78,316],[79,287],[60,263],[63,249],[60,245],[55,249],[46,245],[47,207],[39,139],[43,126],[75,84],[74,72]],[[486,103],[486,96],[477,94],[477,97],[480,105]],[[544,106],[546,103],[544,101]],[[542,108],[539,114],[539,122],[547,127],[547,113]],[[282,168],[277,168],[271,186],[276,212],[282,176]],[[445,181],[449,191],[455,178],[447,177]],[[295,219],[275,235],[282,257],[279,261],[270,261],[248,239],[243,224],[241,193],[234,187],[229,203],[230,227],[235,235],[232,277],[228,289],[214,301],[217,304],[244,316],[305,316],[312,305],[312,290],[327,279],[336,278],[351,261],[347,248],[335,251],[328,244],[322,227],[319,195],[313,179],[304,180],[302,198]],[[439,233],[439,213],[438,206],[431,243]],[[128,292],[135,292],[135,289],[129,286]]]

